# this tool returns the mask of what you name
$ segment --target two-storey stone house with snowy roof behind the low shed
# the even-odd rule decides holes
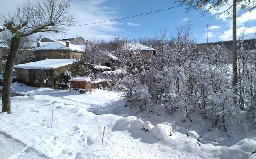
[[[43,42],[46,45],[41,46],[38,41],[35,51],[37,59],[81,59],[85,54],[85,47],[71,44],[69,41]]]

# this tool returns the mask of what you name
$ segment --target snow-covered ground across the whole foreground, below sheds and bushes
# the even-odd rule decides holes
[[[182,123],[167,115],[137,114],[124,107],[120,92],[96,89],[78,95],[19,83],[12,84],[12,91],[25,96],[12,97],[12,114],[0,114],[0,147],[4,147],[0,150],[1,159],[24,159],[25,155],[27,159],[32,159],[31,155],[36,156],[33,159],[256,159],[253,131],[229,138],[217,130],[201,130],[205,129],[203,123]],[[200,124],[202,127],[195,131],[202,146],[194,132],[186,135]],[[211,142],[214,145],[206,144]]]

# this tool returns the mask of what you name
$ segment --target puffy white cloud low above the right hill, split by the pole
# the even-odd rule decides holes
[[[256,33],[256,26],[253,26],[253,27],[240,27],[237,29],[237,35],[239,35],[240,33],[242,33],[244,31],[245,34],[251,34],[251,33]],[[227,30],[227,31],[224,31],[224,33],[222,33],[219,38],[221,40],[232,40],[232,37],[233,37],[233,30],[232,28]]]

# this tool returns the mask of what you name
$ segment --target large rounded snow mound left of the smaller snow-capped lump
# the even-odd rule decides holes
[[[171,127],[162,123],[156,124],[152,128],[152,133],[154,134],[156,139],[163,140],[167,136],[171,136]]]

